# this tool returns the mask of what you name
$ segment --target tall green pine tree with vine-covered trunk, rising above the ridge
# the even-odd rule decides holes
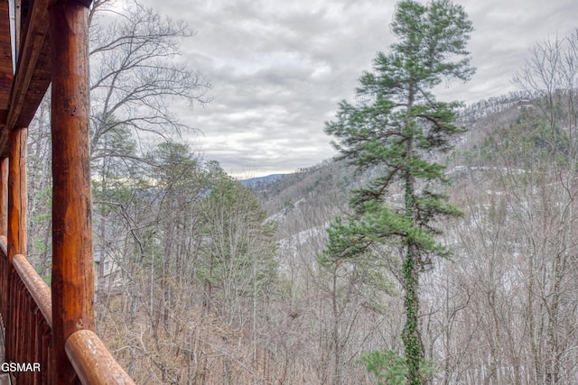
[[[402,1],[396,7],[392,32],[397,41],[389,53],[378,52],[373,71],[359,78],[357,103],[340,103],[336,119],[325,131],[340,159],[359,170],[378,170],[368,186],[353,192],[348,221],[328,230],[327,254],[334,261],[375,253],[376,244],[401,251],[406,324],[402,334],[407,382],[424,382],[424,346],[418,327],[420,273],[434,256],[448,251],[436,241],[435,222],[460,215],[448,204],[448,182],[433,151],[452,148],[458,102],[436,100],[433,90],[443,81],[467,81],[474,72],[466,43],[472,24],[461,5],[434,0],[427,5]],[[401,187],[403,201],[392,197]],[[383,248],[381,248],[383,250]],[[378,256],[376,256],[378,258]]]

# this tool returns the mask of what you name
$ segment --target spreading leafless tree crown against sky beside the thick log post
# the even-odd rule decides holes
[[[207,79],[179,58],[181,41],[194,35],[186,23],[136,1],[113,13],[110,3],[96,2],[90,15],[93,160],[123,155],[105,145],[106,133],[128,129],[167,138],[190,129],[174,109],[209,101]]]

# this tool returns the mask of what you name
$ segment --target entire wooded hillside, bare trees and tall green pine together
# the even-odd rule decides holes
[[[90,11],[90,150],[97,332],[137,383],[578,383],[578,30],[529,51],[517,92],[442,103],[471,22],[402,1],[325,123],[339,155],[241,183],[167,103],[210,103],[176,60],[191,30],[130,4]],[[27,147],[48,282],[49,108]]]

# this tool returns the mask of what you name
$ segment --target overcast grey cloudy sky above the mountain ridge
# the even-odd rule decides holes
[[[182,60],[210,79],[208,105],[176,108],[199,133],[187,137],[205,160],[238,178],[294,172],[336,154],[323,133],[378,50],[394,42],[389,0],[142,0],[196,32]],[[477,73],[439,89],[440,99],[475,103],[515,91],[511,79],[546,39],[578,28],[576,0],[458,0],[475,31]]]

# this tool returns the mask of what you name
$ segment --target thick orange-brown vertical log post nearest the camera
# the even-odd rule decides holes
[[[53,383],[78,383],[64,351],[70,335],[94,330],[89,170],[89,2],[51,5]],[[105,370],[105,368],[102,368]]]

